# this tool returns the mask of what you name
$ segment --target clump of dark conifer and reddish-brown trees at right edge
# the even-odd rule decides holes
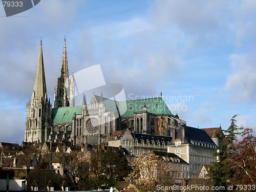
[[[224,131],[225,136],[216,153],[217,162],[211,166],[210,177],[216,186],[255,184],[256,177],[256,138],[251,129],[237,125],[237,115],[230,120]],[[243,139],[238,140],[241,135]]]

